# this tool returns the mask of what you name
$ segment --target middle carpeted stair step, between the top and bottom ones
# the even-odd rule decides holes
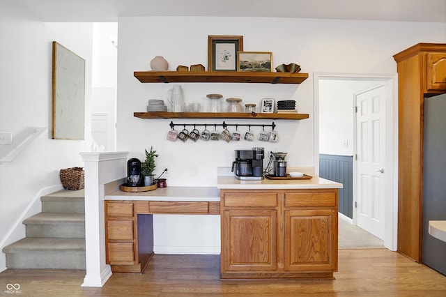
[[[83,213],[38,213],[23,224],[26,237],[85,238]]]

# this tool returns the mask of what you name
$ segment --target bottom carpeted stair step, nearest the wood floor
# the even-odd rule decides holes
[[[84,238],[23,238],[3,248],[8,269],[85,269]]]

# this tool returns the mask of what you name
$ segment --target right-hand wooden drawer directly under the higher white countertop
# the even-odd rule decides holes
[[[336,206],[336,192],[285,193],[285,207]]]

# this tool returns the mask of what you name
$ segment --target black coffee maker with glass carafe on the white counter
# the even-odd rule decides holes
[[[236,150],[236,160],[232,162],[231,172],[237,179],[258,181],[263,179],[264,149]]]

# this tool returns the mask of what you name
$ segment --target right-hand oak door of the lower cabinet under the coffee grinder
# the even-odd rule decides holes
[[[337,212],[285,211],[286,271],[337,271]]]

